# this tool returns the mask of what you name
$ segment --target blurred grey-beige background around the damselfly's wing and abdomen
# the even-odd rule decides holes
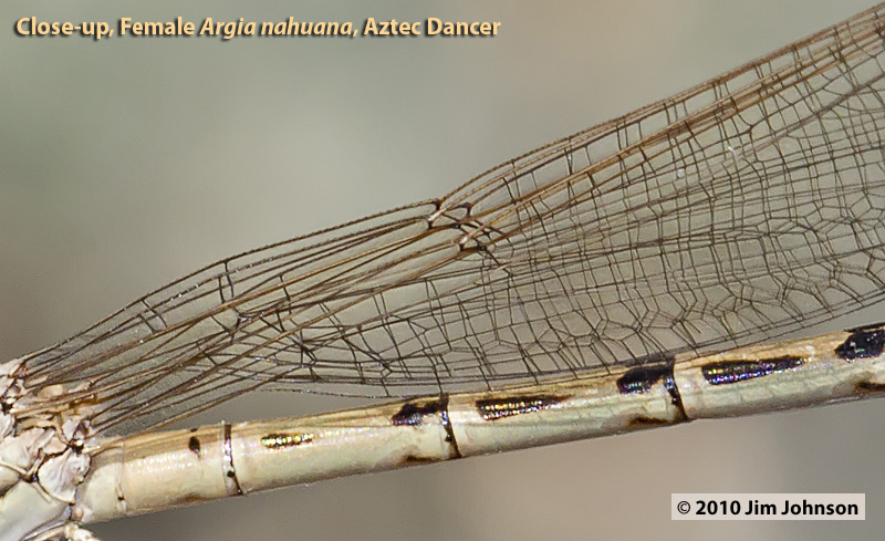
[[[205,263],[441,195],[870,0],[0,7],[0,357]],[[493,39],[19,38],[14,22],[500,21]],[[848,323],[883,320],[875,311]],[[845,324],[848,324],[845,323]],[[836,325],[843,326],[843,325]],[[832,330],[832,327],[823,329]],[[195,423],[351,402],[258,395]],[[885,404],[684,427],[97,524],[104,541],[872,539]],[[864,522],[671,522],[670,492],[865,492]]]

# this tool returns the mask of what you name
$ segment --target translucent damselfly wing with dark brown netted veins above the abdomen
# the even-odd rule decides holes
[[[126,434],[253,388],[496,387],[725,350],[885,292],[883,8],[438,201],[208,267],[27,358]]]

